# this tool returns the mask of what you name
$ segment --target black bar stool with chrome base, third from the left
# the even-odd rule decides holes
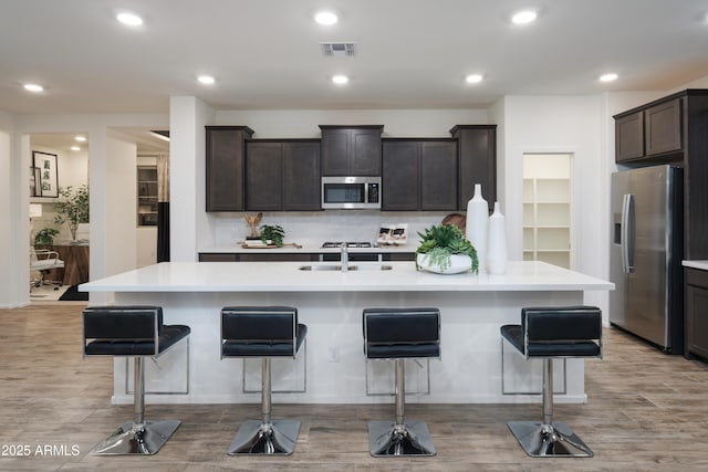
[[[440,357],[440,312],[437,308],[364,310],[364,354],[367,359],[396,361],[396,420],[368,423],[373,457],[435,455],[425,421],[406,421],[406,358]]]

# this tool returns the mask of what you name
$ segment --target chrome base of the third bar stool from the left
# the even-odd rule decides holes
[[[372,421],[368,423],[368,447],[375,458],[395,455],[435,455],[435,444],[425,421]]]

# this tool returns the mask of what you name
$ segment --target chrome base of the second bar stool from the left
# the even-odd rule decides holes
[[[299,420],[274,420],[270,423],[248,420],[233,437],[228,453],[290,455],[295,450],[299,432]]]

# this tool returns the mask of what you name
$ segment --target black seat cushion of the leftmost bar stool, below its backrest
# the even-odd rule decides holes
[[[166,325],[162,326],[157,337],[157,350],[155,339],[96,339],[86,344],[86,355],[97,356],[154,356],[168,349],[180,339],[189,335],[189,326]]]

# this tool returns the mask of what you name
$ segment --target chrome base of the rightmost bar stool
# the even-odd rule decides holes
[[[532,458],[592,458],[593,451],[563,421],[542,424],[540,421],[507,423],[519,444]]]

